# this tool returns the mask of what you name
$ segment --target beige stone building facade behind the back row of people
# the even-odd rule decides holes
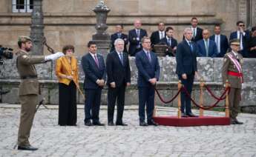
[[[50,46],[61,50],[63,45],[73,44],[79,56],[87,52],[86,43],[95,33],[96,19],[92,9],[97,2],[43,0],[45,36]],[[114,33],[114,26],[120,23],[125,25],[124,31],[128,33],[134,20],[141,19],[142,27],[150,36],[157,30],[157,23],[163,21],[166,26],[174,27],[174,37],[178,41],[193,16],[199,19],[200,27],[210,30],[214,24],[221,24],[223,33],[229,36],[236,29],[238,19],[246,21],[247,13],[246,0],[106,0],[105,4],[111,9],[108,33]],[[0,1],[0,44],[16,50],[18,36],[30,35],[31,20],[30,13],[12,13],[11,8],[10,0]]]

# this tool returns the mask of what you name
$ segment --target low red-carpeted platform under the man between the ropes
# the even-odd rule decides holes
[[[193,127],[203,125],[230,125],[230,120],[227,117],[214,117],[214,116],[202,116],[202,117],[188,117],[178,118],[177,116],[157,116],[154,117],[160,125],[175,126],[175,127]]]

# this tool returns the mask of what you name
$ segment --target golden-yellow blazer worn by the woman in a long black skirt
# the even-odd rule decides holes
[[[70,84],[70,79],[62,78],[63,76],[73,76],[73,81],[79,85],[78,83],[78,65],[77,59],[72,56],[71,57],[71,64],[69,63],[66,56],[62,56],[61,58],[56,60],[56,76],[59,79],[60,83],[63,84]],[[73,73],[72,73],[73,72]]]

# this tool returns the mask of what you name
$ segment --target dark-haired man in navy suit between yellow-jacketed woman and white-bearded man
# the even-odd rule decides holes
[[[96,53],[96,42],[88,42],[89,53],[82,56],[82,69],[85,73],[85,125],[104,124],[99,122],[99,106],[106,73],[103,56]],[[92,119],[92,123],[91,123]]]

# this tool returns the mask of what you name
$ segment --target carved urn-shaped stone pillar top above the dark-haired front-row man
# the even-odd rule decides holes
[[[93,41],[96,41],[98,53],[104,58],[106,58],[111,44],[110,36],[105,32],[108,29],[106,21],[109,11],[110,9],[104,4],[104,1],[99,1],[99,4],[93,9],[93,12],[96,13],[96,33],[93,34]]]

